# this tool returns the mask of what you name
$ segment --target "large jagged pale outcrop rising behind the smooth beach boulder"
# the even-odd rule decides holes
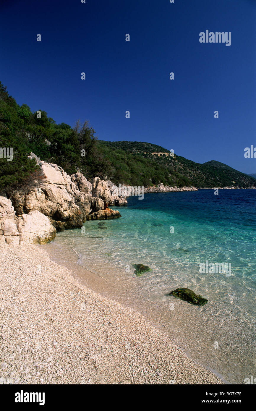
[[[36,159],[42,176],[27,190],[13,194],[12,204],[19,218],[38,211],[48,217],[57,231],[63,231],[81,228],[86,219],[120,217],[119,212],[108,211],[108,207],[118,202],[122,205],[125,199],[113,197],[106,181],[97,177],[91,183],[79,171],[70,176],[57,164],[40,161],[33,153],[30,158]]]

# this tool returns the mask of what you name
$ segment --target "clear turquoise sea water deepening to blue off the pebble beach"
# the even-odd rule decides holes
[[[67,265],[71,247],[80,280],[90,270],[86,285],[143,312],[224,381],[256,375],[256,190],[145,194],[118,210],[122,218],[85,222],[84,234],[58,233],[46,248]],[[206,261],[230,263],[231,276],[200,273]],[[152,271],[136,277],[134,263]],[[179,286],[209,302],[166,296]]]

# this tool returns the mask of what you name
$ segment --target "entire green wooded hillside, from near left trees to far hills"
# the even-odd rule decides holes
[[[40,113],[39,113],[40,112]],[[0,82],[0,147],[13,148],[13,159],[0,158],[0,193],[40,178],[34,152],[41,160],[61,166],[67,173],[80,170],[89,180],[99,176],[133,186],[256,187],[256,180],[226,164],[195,163],[159,145],[131,141],[102,141],[88,121],[74,128],[55,121],[26,104],[19,106]]]

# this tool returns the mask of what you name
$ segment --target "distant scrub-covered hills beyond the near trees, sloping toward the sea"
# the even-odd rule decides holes
[[[203,187],[256,187],[251,176],[226,164],[209,161],[195,163],[160,145],[138,141],[102,141],[99,147],[111,163],[109,178],[113,182],[131,185],[164,185],[178,187],[194,185]]]

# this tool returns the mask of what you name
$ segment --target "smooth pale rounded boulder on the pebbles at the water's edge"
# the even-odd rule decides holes
[[[18,219],[17,227],[21,237],[20,241],[30,244],[46,244],[56,235],[56,229],[48,217],[37,210],[23,214],[22,218]]]

